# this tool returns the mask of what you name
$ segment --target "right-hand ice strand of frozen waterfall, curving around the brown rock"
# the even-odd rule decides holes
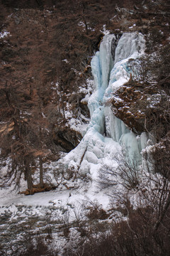
[[[123,33],[123,36],[118,41],[115,48],[114,65],[110,73],[108,87],[104,93],[103,102],[104,115],[106,120],[106,134],[115,142],[119,142],[126,147],[130,158],[133,155],[140,158],[140,151],[143,147],[140,139],[136,138],[135,134],[125,126],[124,122],[114,116],[108,102],[115,90],[118,90],[125,82],[130,79],[132,70],[128,67],[130,58],[139,58],[145,50],[145,39],[141,33]],[[142,137],[143,142],[143,137]]]

